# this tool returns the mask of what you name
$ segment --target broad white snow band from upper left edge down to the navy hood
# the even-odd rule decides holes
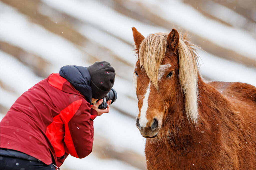
[[[90,65],[83,60],[86,56],[77,45],[31,23],[25,15],[4,3],[1,4],[1,9],[4,9],[1,11],[1,41],[42,56],[54,64],[48,68],[49,74],[59,72],[65,65]]]

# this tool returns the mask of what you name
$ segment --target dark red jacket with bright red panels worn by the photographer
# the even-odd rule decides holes
[[[90,77],[85,78],[90,89]],[[52,73],[23,93],[0,123],[1,148],[58,167],[68,154],[76,158],[89,155],[97,112],[90,107],[91,96],[85,97],[69,81]]]

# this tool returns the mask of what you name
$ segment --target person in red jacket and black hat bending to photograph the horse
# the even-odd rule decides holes
[[[111,100],[104,110],[98,106],[114,79],[114,68],[101,61],[64,66],[28,89],[0,123],[0,168],[59,169],[69,154],[89,155],[93,120],[109,112]]]

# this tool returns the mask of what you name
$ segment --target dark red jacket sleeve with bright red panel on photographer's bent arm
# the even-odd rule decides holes
[[[68,122],[64,121],[64,142],[68,152],[76,158],[84,158],[92,151],[94,128],[91,114],[97,113],[86,100],[80,100],[77,100],[79,109],[74,109],[75,113]]]

